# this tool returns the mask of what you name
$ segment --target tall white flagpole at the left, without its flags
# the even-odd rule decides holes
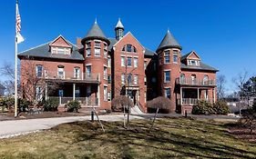
[[[15,22],[16,22],[16,15],[17,15],[17,1],[16,1],[16,14],[15,14]],[[16,32],[16,25],[15,25],[15,117],[17,116],[17,32]]]

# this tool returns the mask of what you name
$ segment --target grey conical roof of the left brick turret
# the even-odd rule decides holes
[[[104,40],[108,43],[108,45],[110,43],[108,38],[106,37],[106,35],[103,33],[103,31],[97,25],[97,22],[95,22],[94,25],[92,25],[91,29],[87,32],[87,35],[82,40],[82,44],[84,45],[86,40],[89,40],[89,39]]]

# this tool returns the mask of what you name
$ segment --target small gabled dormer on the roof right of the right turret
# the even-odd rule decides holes
[[[191,51],[188,55],[184,55],[181,61],[186,65],[200,66],[200,56],[195,51]]]

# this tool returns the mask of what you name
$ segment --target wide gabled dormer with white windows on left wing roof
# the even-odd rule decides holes
[[[71,55],[72,45],[62,35],[59,35],[49,46],[52,55]]]

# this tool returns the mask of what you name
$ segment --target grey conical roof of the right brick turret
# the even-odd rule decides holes
[[[157,49],[157,52],[160,49],[169,48],[169,47],[182,49],[181,45],[179,45],[177,40],[174,38],[173,35],[171,35],[171,33],[168,30],[167,34],[164,36],[163,40],[161,41],[161,43]]]

